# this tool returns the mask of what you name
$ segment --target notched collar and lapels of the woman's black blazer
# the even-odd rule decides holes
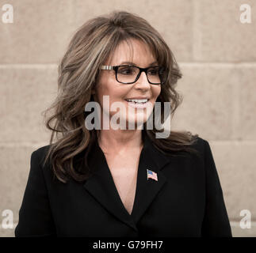
[[[137,231],[139,219],[166,183],[166,177],[161,169],[169,161],[170,158],[155,148],[147,134],[143,134],[143,149],[139,157],[136,195],[131,215],[120,199],[105,155],[97,142],[92,146],[89,161],[93,176],[90,176],[83,186],[109,213]],[[147,180],[147,169],[157,173],[158,181]]]

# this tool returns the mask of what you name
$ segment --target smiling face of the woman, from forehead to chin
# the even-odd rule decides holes
[[[151,62],[156,61],[150,48],[140,40],[130,39],[129,42],[130,47],[126,41],[120,42],[113,54],[104,62],[104,66],[114,66],[114,71],[111,71],[111,69],[107,69],[108,71],[101,70],[97,85],[92,89],[94,101],[101,104],[102,123],[104,113],[108,113],[110,119],[114,115],[114,112],[109,111],[108,108],[106,108],[107,111],[104,110],[104,95],[109,96],[110,107],[117,102],[124,104],[126,111],[123,115],[126,119],[123,120],[127,123],[135,122],[136,126],[139,126],[137,120],[140,119],[140,125],[147,122],[147,118],[151,114],[155,101],[161,92],[159,70],[156,69],[158,66],[152,66]],[[127,65],[127,59],[130,59],[131,63],[129,65]],[[151,67],[146,70],[139,68],[139,66],[143,68]],[[144,70],[144,73],[141,74],[141,70]],[[157,74],[153,75],[153,71],[157,71]],[[155,81],[155,85],[152,85],[148,80]],[[137,110],[133,114],[129,114],[129,107],[137,108]],[[103,126],[101,129],[103,130],[101,133],[104,132]]]

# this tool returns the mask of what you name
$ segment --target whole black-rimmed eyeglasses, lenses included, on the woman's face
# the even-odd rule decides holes
[[[149,66],[147,68],[140,68],[133,65],[120,65],[120,66],[106,66],[100,67],[101,70],[115,70],[116,79],[122,84],[135,83],[142,72],[147,75],[147,81],[151,85],[163,85],[167,81],[168,71],[162,66]]]

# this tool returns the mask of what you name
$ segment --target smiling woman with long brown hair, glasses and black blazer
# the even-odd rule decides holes
[[[174,113],[180,77],[143,18],[113,12],[82,25],[59,65],[50,145],[32,153],[15,235],[231,236],[208,142],[159,138],[166,115],[155,107]],[[99,105],[91,121],[89,102]]]

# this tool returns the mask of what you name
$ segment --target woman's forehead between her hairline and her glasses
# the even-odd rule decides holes
[[[138,66],[146,67],[155,62],[155,56],[146,43],[135,39],[124,40],[109,55],[107,64],[120,65],[122,62],[133,62]]]

